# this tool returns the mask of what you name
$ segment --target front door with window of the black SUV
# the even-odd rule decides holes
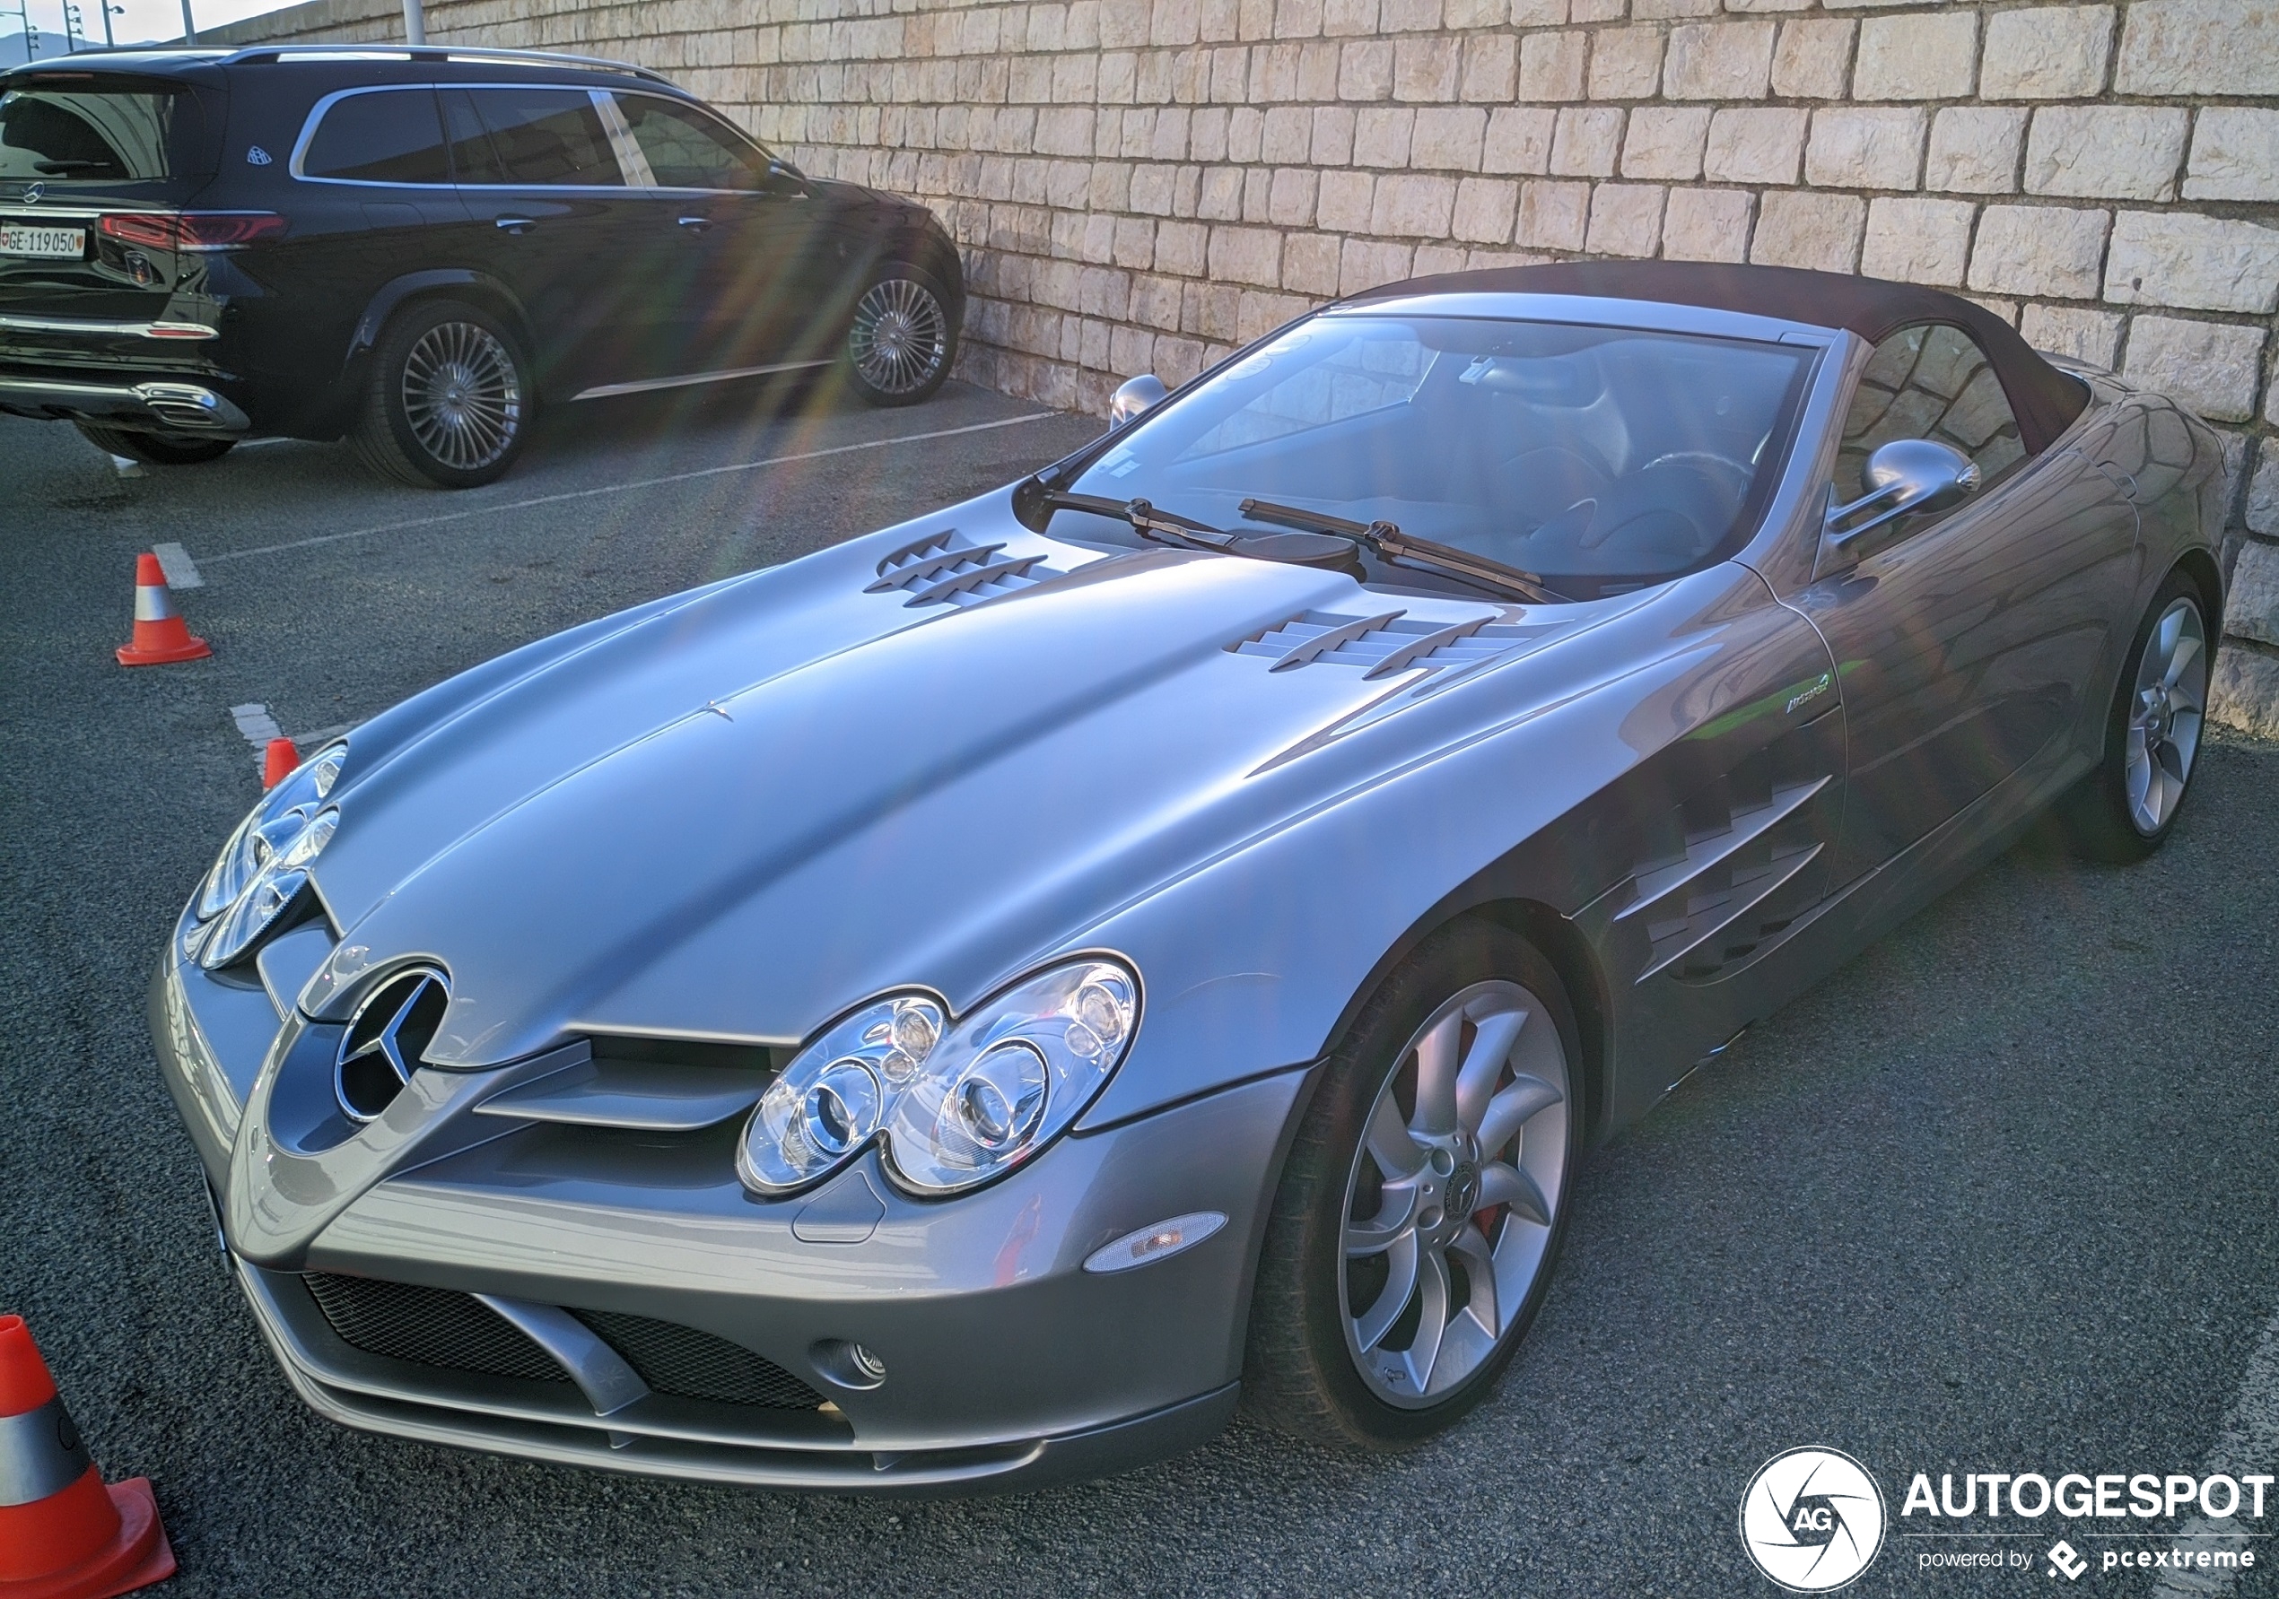
[[[818,205],[720,116],[661,93],[615,93],[654,184],[659,230],[679,235],[659,278],[681,374],[750,371],[830,348],[818,330]]]

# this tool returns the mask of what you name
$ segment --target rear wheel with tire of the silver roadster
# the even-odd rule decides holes
[[[2199,770],[2208,670],[2199,585],[2170,572],[2138,624],[2106,711],[2106,754],[2056,806],[2067,850],[2126,866],[2167,843]]]

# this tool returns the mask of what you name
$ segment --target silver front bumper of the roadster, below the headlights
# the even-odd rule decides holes
[[[403,1125],[387,1128],[392,1107],[317,1182],[264,1141],[303,1027],[278,995],[296,991],[285,970],[264,991],[169,959],[150,1009],[262,1335],[335,1421],[659,1476],[975,1492],[1162,1458],[1233,1412],[1256,1237],[1304,1071],[1062,1139],[1007,1180],[934,1203],[900,1196],[875,1157],[818,1194],[761,1203],[729,1168],[741,1116],[661,1139],[492,1116],[472,1128],[467,1109],[517,1066],[424,1071],[399,1100],[419,1100]],[[428,1137],[397,1137],[360,1164],[353,1146],[410,1123]],[[846,1225],[841,1184],[875,1210],[866,1225]],[[830,1225],[816,1225],[825,1210]],[[1228,1225],[1149,1266],[1083,1269],[1101,1244],[1199,1210]],[[608,1408],[579,1380],[392,1358],[342,1337],[310,1289],[326,1278],[670,1323],[757,1353],[827,1403],[647,1392]],[[843,1344],[882,1358],[887,1378],[839,1380],[818,1351]]]

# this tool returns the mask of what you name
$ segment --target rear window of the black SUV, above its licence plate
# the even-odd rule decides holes
[[[0,178],[148,182],[196,175],[205,118],[182,87],[93,73],[0,93]]]

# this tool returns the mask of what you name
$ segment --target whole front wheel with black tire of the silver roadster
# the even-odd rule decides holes
[[[1415,1102],[1427,1055],[1454,1084],[1438,1116]],[[1559,975],[1504,927],[1454,922],[1386,977],[1324,1064],[1274,1196],[1244,1358],[1258,1419],[1413,1449],[1488,1396],[1566,1239],[1579,1061]],[[1418,1125],[1445,1132],[1418,1143]],[[1388,1216],[1404,1221],[1370,1225]]]

